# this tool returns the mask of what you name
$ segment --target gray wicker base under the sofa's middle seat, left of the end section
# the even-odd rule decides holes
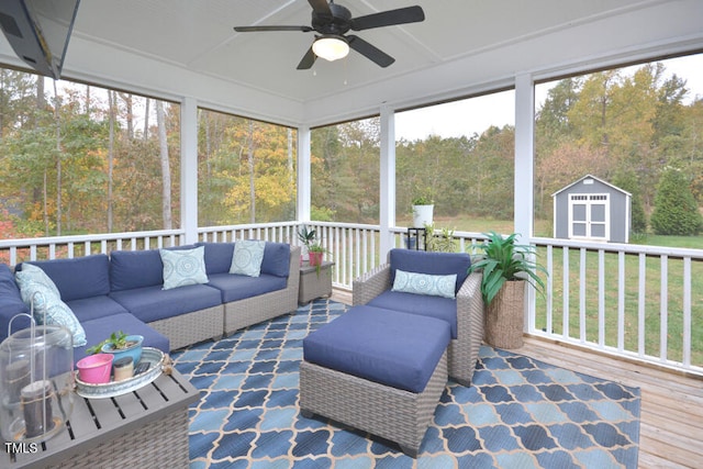
[[[222,336],[222,304],[148,323],[168,337],[171,350]]]

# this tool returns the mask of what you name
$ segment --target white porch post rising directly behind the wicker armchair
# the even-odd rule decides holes
[[[381,107],[381,168],[380,168],[380,261],[383,264],[393,247],[395,226],[395,114],[387,105]]]

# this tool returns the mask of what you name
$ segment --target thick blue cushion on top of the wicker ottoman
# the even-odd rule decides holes
[[[445,321],[354,306],[303,339],[306,361],[422,392],[449,344]]]

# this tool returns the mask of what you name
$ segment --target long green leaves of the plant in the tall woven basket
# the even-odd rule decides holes
[[[517,233],[503,237],[495,232],[483,233],[488,239],[473,244],[472,248],[483,252],[471,264],[469,273],[482,270],[481,294],[486,304],[490,304],[506,281],[525,280],[538,292],[544,292],[545,283],[537,272],[548,275],[544,266],[532,258],[536,255],[534,246],[515,244]]]

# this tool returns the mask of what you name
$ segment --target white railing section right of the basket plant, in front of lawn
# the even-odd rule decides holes
[[[703,250],[532,243],[550,275],[531,334],[703,373]]]

